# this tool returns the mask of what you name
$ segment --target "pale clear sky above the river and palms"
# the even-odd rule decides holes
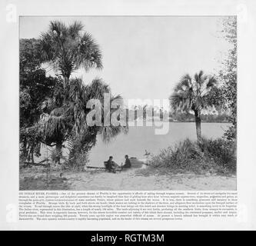
[[[200,70],[213,75],[229,45],[221,38],[223,17],[74,16],[21,17],[20,38],[39,38],[51,20],[85,25],[103,54],[103,69],[72,77],[85,84],[102,78],[114,95],[125,99],[168,98],[185,73]],[[51,73],[50,71],[49,73]]]

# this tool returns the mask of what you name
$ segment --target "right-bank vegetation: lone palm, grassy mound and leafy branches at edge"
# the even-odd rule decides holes
[[[187,171],[235,171],[236,169],[236,128],[237,128],[237,20],[224,18],[222,33],[231,44],[228,57],[222,62],[217,86],[215,78],[207,78],[202,72],[194,79],[189,75],[181,78],[170,97],[176,118],[189,118],[194,111],[197,135],[200,141],[185,140],[175,148],[167,148],[151,159],[154,167]],[[194,82],[193,82],[194,81]],[[214,106],[218,110],[229,110],[231,127],[224,132],[224,138],[215,140],[201,138],[201,110]],[[198,123],[197,123],[198,121]]]

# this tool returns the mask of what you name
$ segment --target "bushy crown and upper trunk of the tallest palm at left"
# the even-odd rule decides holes
[[[81,22],[65,25],[50,22],[47,32],[40,38],[39,48],[44,62],[49,62],[61,73],[64,88],[69,84],[72,71],[78,68],[102,68],[101,51]]]

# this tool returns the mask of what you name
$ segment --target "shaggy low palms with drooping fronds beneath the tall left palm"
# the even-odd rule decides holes
[[[56,152],[61,155],[64,141],[69,142],[69,159],[75,161],[75,157],[82,151],[88,152],[96,143],[97,135],[101,135],[103,141],[111,141],[121,132],[127,133],[128,126],[88,126],[86,115],[90,108],[86,104],[90,99],[98,99],[101,106],[104,105],[104,94],[111,93],[110,88],[99,78],[91,81],[91,84],[84,85],[81,78],[74,78],[70,81],[68,90],[68,104],[62,105],[51,111],[45,119],[45,142],[50,145],[55,142]],[[111,102],[121,101],[120,95],[111,96]],[[112,114],[115,109],[111,109]],[[104,110],[101,108],[102,123],[104,121]],[[57,160],[60,161],[59,159]]]

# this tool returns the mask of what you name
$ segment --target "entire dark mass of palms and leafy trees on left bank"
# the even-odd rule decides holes
[[[55,77],[46,75],[42,68],[45,63],[55,70]],[[65,161],[74,166],[81,159],[88,161],[88,151],[95,145],[97,135],[110,141],[128,131],[120,125],[88,126],[87,102],[93,98],[103,105],[104,94],[111,95],[111,90],[99,78],[89,85],[80,78],[70,79],[78,68],[102,68],[99,47],[90,34],[83,32],[80,22],[68,26],[50,22],[39,40],[20,40],[21,161],[34,162],[34,155],[40,155],[41,144],[45,144],[55,146],[51,158],[58,163],[63,158],[62,148],[68,148]],[[116,99],[121,101],[119,95],[111,95],[111,101]]]

